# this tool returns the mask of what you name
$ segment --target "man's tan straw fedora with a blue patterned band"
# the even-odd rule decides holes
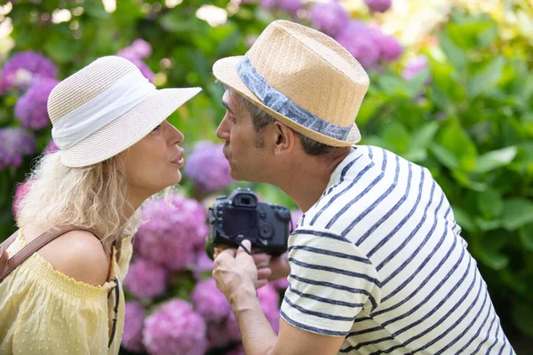
[[[244,56],[219,59],[213,75],[306,137],[328,146],[361,140],[354,120],[369,76],[342,45],[319,31],[276,20]]]

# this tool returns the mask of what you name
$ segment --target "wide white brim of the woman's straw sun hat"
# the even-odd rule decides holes
[[[133,106],[113,122],[60,152],[61,162],[80,168],[103,162],[139,142],[201,88],[162,89]]]

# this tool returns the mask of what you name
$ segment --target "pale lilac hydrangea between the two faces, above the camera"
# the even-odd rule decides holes
[[[185,177],[193,179],[198,189],[211,193],[231,184],[229,163],[222,153],[223,143],[202,141],[187,158]]]

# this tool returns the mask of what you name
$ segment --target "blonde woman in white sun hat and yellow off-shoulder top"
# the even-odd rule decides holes
[[[118,353],[120,283],[139,207],[181,179],[183,135],[166,118],[199,91],[156,90],[119,57],[97,59],[54,88],[48,112],[60,151],[33,171],[8,252],[61,225],[94,235],[60,236],[0,283],[0,353]]]

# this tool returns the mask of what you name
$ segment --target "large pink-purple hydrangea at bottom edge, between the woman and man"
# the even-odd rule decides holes
[[[191,304],[172,300],[148,316],[143,343],[153,355],[203,355],[207,349],[205,322]]]

